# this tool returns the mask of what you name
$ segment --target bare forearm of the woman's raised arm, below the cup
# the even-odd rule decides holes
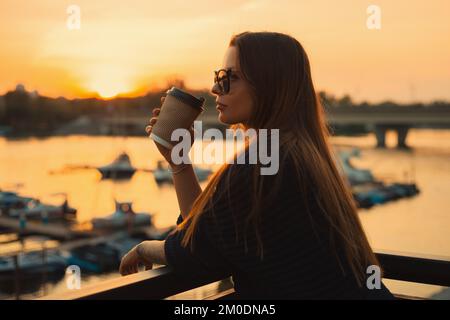
[[[186,218],[194,204],[195,199],[200,195],[202,189],[195,175],[192,164],[181,165],[186,167],[173,167],[173,184],[177,193],[178,205],[181,216]],[[179,169],[181,171],[177,172]]]

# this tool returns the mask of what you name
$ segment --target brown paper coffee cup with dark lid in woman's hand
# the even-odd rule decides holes
[[[176,129],[189,129],[195,119],[203,112],[205,98],[193,95],[172,87],[167,90],[166,98],[161,106],[158,121],[152,128],[150,138],[155,142],[172,149],[177,141],[172,141],[172,132]]]

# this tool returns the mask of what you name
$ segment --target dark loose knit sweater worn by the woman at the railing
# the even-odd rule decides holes
[[[281,157],[280,157],[281,159]],[[263,259],[257,253],[257,237],[246,217],[252,207],[253,169],[256,165],[229,166],[205,208],[194,236],[194,250],[183,247],[185,229],[169,235],[166,259],[176,272],[186,276],[211,271],[231,273],[241,298],[273,299],[391,299],[382,285],[369,290],[359,287],[346,264],[342,246],[330,245],[330,226],[307,195],[308,214],[299,204],[299,189],[293,164],[280,163],[281,187],[262,203],[261,237]],[[230,174],[230,179],[226,176]],[[264,194],[273,188],[275,176],[264,176]],[[177,223],[182,221],[181,215]],[[332,249],[333,248],[333,249]],[[340,266],[337,257],[342,267]]]

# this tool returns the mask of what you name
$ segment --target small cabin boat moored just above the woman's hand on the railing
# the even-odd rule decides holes
[[[149,213],[136,213],[131,202],[117,202],[116,211],[107,217],[94,218],[94,229],[126,229],[128,227],[149,226],[152,216]]]

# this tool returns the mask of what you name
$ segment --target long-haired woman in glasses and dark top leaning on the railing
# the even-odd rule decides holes
[[[241,298],[392,298],[382,283],[366,285],[367,267],[378,261],[336,168],[300,43],[275,32],[235,35],[212,92],[221,122],[279,129],[279,171],[261,175],[260,163],[225,164],[202,191],[192,165],[175,165],[157,144],[173,173],[177,229],[133,248],[121,274],[157,263],[190,277],[229,273]],[[148,134],[158,114],[156,108]]]

